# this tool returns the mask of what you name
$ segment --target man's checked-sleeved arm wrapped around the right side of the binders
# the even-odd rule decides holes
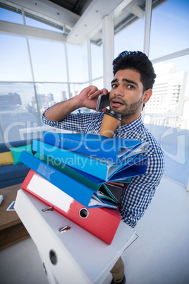
[[[130,227],[135,227],[144,215],[161,181],[163,172],[164,153],[154,152],[148,157],[145,174],[133,177],[127,185],[122,195],[120,213],[122,220]]]

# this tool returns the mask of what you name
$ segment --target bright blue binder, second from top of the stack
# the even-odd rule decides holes
[[[100,160],[36,140],[32,143],[32,149],[54,158],[61,162],[62,165],[67,165],[95,184],[103,184],[115,180],[123,181],[130,177],[144,174],[147,167],[147,157],[141,154],[125,157],[121,162],[109,162],[109,160]],[[126,180],[126,182],[128,181]]]

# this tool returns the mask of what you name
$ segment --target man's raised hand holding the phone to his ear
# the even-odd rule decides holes
[[[99,90],[94,85],[90,85],[89,87],[83,89],[78,95],[78,99],[80,100],[83,107],[87,107],[91,110],[96,110],[97,100],[100,94],[106,95],[108,93],[107,89]]]

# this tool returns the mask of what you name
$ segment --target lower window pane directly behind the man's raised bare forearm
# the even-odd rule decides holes
[[[68,84],[37,83],[36,90],[40,117],[42,117],[44,110],[47,110],[56,102],[68,100]]]

